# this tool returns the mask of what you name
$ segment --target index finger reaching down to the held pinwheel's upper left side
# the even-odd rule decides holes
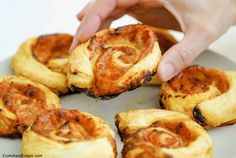
[[[127,8],[137,4],[140,0],[97,0],[84,13],[79,28],[74,36],[70,51],[74,49],[78,42],[86,41],[101,28],[104,23],[109,23],[125,14]],[[102,27],[103,28],[103,27]]]

